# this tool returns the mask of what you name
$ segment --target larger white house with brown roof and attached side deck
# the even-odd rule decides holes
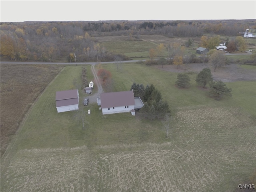
[[[135,102],[136,100],[136,102]],[[120,91],[120,92],[108,92],[100,94],[100,98],[97,99],[98,105],[101,106],[102,114],[114,114],[132,112],[135,109],[141,108],[144,104],[139,102],[140,98],[134,98],[133,90],[131,91]]]

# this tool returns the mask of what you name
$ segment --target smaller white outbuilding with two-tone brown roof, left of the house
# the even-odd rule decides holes
[[[77,89],[57,91],[55,98],[58,113],[78,110],[79,94]]]

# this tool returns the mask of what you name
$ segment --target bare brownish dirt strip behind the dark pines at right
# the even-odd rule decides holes
[[[214,81],[223,81],[223,82],[234,82],[234,81],[255,81],[256,74],[255,70],[248,70],[242,68],[238,64],[230,64],[217,68],[216,72],[214,69],[209,66],[208,63],[193,63],[193,64],[184,64],[177,68],[176,65],[165,65],[165,66],[155,66],[156,68],[164,71],[184,73],[184,72],[195,72],[199,73],[203,68],[210,68],[212,71],[212,76]]]

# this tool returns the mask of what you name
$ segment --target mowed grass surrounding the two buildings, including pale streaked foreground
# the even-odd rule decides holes
[[[239,191],[255,171],[255,82],[229,82],[233,97],[216,101],[195,84],[174,86],[177,73],[144,64],[102,65],[114,91],[154,84],[172,110],[170,138],[160,120],[136,112],[102,115],[90,101],[86,126],[58,114],[55,92],[80,82],[66,66],[32,108],[1,161],[1,191]],[[92,76],[87,67],[88,76]],[[252,70],[255,70],[254,68]],[[84,93],[80,90],[80,101]]]

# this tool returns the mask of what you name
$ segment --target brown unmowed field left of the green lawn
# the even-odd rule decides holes
[[[1,156],[34,101],[62,67],[1,64]]]

